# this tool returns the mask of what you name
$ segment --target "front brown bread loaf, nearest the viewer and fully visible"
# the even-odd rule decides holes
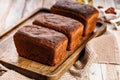
[[[27,25],[15,33],[14,42],[20,56],[55,65],[64,58],[68,39],[57,31]]]

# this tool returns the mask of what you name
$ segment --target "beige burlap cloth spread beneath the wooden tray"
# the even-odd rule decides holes
[[[85,77],[92,62],[120,64],[119,35],[120,31],[112,31],[90,40],[86,45],[85,52],[82,52],[79,60],[77,60],[59,80],[86,80]],[[2,58],[4,58],[4,55],[2,55]],[[24,75],[0,65],[0,80],[34,79],[25,77]]]

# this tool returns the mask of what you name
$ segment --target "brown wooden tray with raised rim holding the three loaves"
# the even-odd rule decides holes
[[[47,66],[18,56],[13,42],[13,35],[20,27],[26,24],[32,24],[31,22],[36,15],[45,12],[49,12],[49,10],[39,9],[38,11],[34,12],[34,14],[32,13],[30,15],[32,17],[29,16],[26,20],[22,20],[21,23],[16,24],[16,28],[8,33],[8,35],[6,35],[6,38],[3,38],[2,43],[0,43],[0,53],[6,55],[6,58],[1,59],[0,63],[7,68],[13,69],[25,76],[34,78],[36,80],[58,80],[58,78],[63,75],[78,59],[80,52],[85,47],[86,43],[90,39],[104,33],[106,30],[106,26],[102,24],[102,27],[100,27],[96,32],[84,37],[82,40],[82,44],[73,51],[67,51],[65,59],[61,61],[58,65]],[[11,59],[9,59],[9,56],[11,57]]]

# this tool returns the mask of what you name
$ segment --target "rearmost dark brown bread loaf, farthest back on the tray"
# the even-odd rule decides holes
[[[89,35],[96,26],[99,12],[93,6],[80,4],[70,0],[58,0],[52,7],[51,12],[66,17],[71,17],[84,24],[84,36]]]

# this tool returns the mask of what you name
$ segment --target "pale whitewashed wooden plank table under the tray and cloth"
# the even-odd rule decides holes
[[[50,8],[56,0],[0,0],[0,34],[38,7]],[[120,9],[117,0],[94,0],[93,5]],[[118,0],[119,1],[119,0]],[[85,80],[120,80],[120,65],[93,63]]]

